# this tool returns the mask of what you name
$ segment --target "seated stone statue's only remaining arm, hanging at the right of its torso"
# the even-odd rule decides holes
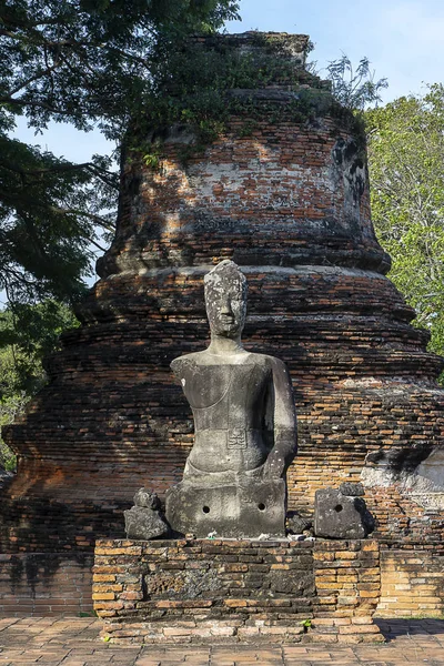
[[[271,357],[274,446],[265,462],[266,476],[283,477],[297,451],[296,412],[286,365]]]

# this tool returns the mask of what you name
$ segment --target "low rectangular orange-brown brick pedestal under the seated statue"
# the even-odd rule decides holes
[[[93,599],[115,643],[375,642],[374,541],[100,541]]]

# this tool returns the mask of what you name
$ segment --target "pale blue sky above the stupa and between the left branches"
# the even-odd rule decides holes
[[[310,59],[319,69],[342,53],[355,64],[366,56],[376,78],[389,79],[385,102],[420,93],[423,82],[444,81],[443,0],[241,0],[240,6],[242,22],[228,23],[229,32],[309,34],[315,46]],[[21,121],[17,137],[74,161],[112,150],[99,132],[85,134],[56,123],[36,138]]]

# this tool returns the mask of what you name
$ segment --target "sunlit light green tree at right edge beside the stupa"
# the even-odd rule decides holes
[[[390,278],[444,354],[444,87],[366,112],[373,221]]]

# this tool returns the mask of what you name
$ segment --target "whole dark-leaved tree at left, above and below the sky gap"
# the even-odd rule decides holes
[[[169,49],[235,16],[234,0],[0,1],[0,289],[10,301],[78,295],[117,192],[109,160],[72,164],[10,139],[17,115],[37,131],[56,120],[119,142]]]

